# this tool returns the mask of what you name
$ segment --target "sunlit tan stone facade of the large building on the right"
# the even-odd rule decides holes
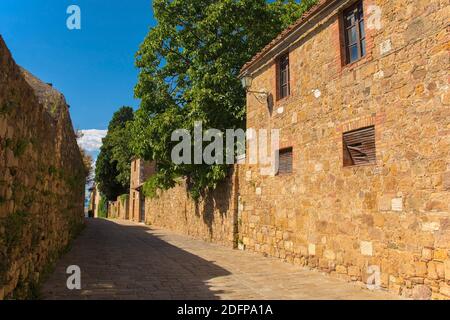
[[[367,27],[365,58],[341,63],[340,10],[329,9],[289,49],[291,95],[268,108],[248,94],[247,127],[281,129],[293,173],[240,169],[240,240],[349,280],[375,266],[385,289],[448,299],[449,4],[365,0],[366,26],[369,5],[381,25]],[[276,96],[275,65],[254,73],[251,90]],[[343,167],[343,132],[369,125],[376,164]]]

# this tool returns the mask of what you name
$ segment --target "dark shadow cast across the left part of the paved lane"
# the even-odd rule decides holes
[[[205,299],[208,280],[230,272],[162,240],[148,227],[89,219],[88,228],[42,288],[45,299]],[[81,269],[82,290],[68,290],[66,268]]]

